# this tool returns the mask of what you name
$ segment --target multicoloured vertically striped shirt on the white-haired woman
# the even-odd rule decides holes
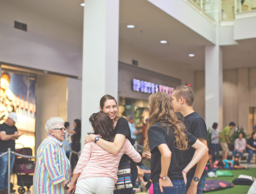
[[[71,180],[71,165],[62,143],[53,136],[47,135],[38,147],[36,155],[33,193],[68,193],[61,182]]]

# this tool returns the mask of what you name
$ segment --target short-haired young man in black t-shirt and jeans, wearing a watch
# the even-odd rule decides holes
[[[202,141],[207,147],[207,128],[203,118],[194,111],[194,92],[188,86],[178,86],[173,90],[172,105],[175,112],[180,112],[184,116],[186,130]],[[189,147],[183,154],[182,167],[186,166],[192,159],[195,149]],[[206,181],[204,172],[208,161],[208,153],[195,165],[187,174],[187,193],[203,193]]]

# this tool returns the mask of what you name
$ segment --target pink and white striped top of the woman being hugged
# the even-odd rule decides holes
[[[141,156],[128,139],[125,139],[123,148],[116,155],[105,151],[97,143],[87,143],[83,147],[74,174],[81,173],[78,180],[88,177],[110,177],[116,182],[117,169],[123,154],[135,162],[141,161]]]

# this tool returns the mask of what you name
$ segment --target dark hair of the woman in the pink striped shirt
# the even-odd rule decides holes
[[[93,113],[90,116],[89,121],[91,122],[94,129],[93,134],[100,134],[101,138],[106,141],[114,141],[116,134],[113,128],[113,122],[107,114],[101,111]]]

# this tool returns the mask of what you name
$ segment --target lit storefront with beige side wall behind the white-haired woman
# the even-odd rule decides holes
[[[15,147],[31,148],[35,154],[47,135],[46,121],[52,116],[59,116],[65,121],[68,119],[69,77],[46,70],[0,64],[0,124],[5,122],[10,112],[15,112],[15,126],[19,134],[23,134],[15,140]],[[80,117],[72,117],[72,120],[75,118]]]

